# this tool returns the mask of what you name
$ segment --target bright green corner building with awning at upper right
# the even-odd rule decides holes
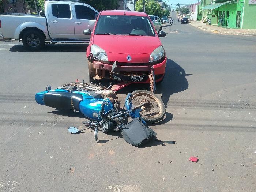
[[[202,10],[212,10],[208,14],[212,24],[230,28],[256,29],[256,2],[254,0],[213,0]],[[255,3],[255,4],[254,4]]]

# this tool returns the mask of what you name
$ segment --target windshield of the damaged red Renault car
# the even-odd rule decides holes
[[[94,34],[155,36],[155,31],[148,17],[101,15],[95,26]]]

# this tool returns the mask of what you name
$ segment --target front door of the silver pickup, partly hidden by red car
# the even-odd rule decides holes
[[[99,14],[94,8],[86,5],[72,4],[75,23],[75,39],[90,39],[91,35],[84,35],[85,29],[91,29],[95,25],[95,14]]]

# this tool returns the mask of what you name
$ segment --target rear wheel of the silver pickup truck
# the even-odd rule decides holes
[[[27,49],[37,51],[44,47],[45,38],[40,32],[29,30],[23,34],[22,43]]]

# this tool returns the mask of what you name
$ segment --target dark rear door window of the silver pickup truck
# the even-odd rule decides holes
[[[57,18],[71,18],[70,7],[68,4],[52,4],[52,15]]]

